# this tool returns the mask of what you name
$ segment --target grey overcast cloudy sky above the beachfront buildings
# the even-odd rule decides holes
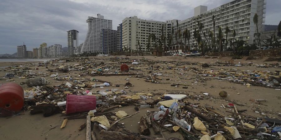
[[[101,13],[112,20],[112,27],[125,17],[165,21],[184,20],[193,16],[194,7],[208,6],[208,10],[231,0],[1,0],[0,54],[17,52],[17,45],[27,50],[62,44],[67,47],[67,31],[79,31],[79,44],[85,40],[88,16]],[[281,0],[268,0],[266,24],[278,25],[281,20]]]

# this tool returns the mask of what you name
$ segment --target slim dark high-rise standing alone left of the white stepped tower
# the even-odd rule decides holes
[[[69,30],[67,31],[67,47],[68,47],[68,55],[71,56],[74,53],[74,48],[78,47],[78,31],[77,30]]]

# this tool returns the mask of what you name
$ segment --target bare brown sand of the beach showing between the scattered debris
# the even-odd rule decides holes
[[[126,58],[118,56],[118,58]],[[161,94],[186,94],[187,96],[184,101],[192,102],[193,104],[198,104],[201,106],[209,106],[223,114],[225,116],[233,117],[230,113],[231,110],[228,108],[222,108],[222,104],[227,106],[229,103],[234,103],[238,110],[246,110],[242,112],[244,116],[253,117],[275,117],[277,119],[281,118],[280,108],[281,108],[281,91],[275,88],[269,88],[265,86],[246,86],[241,83],[229,82],[222,79],[216,79],[211,76],[202,77],[200,73],[210,72],[212,69],[216,72],[236,72],[237,75],[241,72],[248,71],[280,71],[280,67],[276,67],[271,64],[280,63],[277,61],[265,62],[267,57],[257,57],[257,58],[247,58],[242,59],[232,59],[234,64],[242,64],[242,66],[227,66],[217,64],[217,60],[231,60],[231,57],[154,57],[154,56],[132,56],[123,59],[122,62],[126,62],[130,66],[130,73],[137,73],[138,76],[90,76],[87,72],[91,72],[93,69],[101,67],[102,69],[108,68],[109,71],[115,72],[120,71],[120,61],[116,57],[90,57],[75,59],[75,61],[70,62],[58,62],[54,61],[52,64],[48,64],[48,68],[42,62],[1,62],[0,67],[4,66],[14,66],[23,65],[30,68],[33,73],[42,72],[42,74],[36,77],[44,77],[50,83],[47,86],[55,86],[60,84],[65,84],[69,82],[73,83],[73,80],[81,80],[82,78],[96,78],[104,81],[111,82],[111,85],[120,85],[120,87],[105,86],[104,88],[96,87],[92,91],[99,90],[111,90],[117,88],[118,91],[124,90],[127,95],[134,95],[136,93],[161,93]],[[117,61],[118,60],[118,61]],[[133,60],[139,62],[138,65],[131,64]],[[86,65],[86,62],[91,62],[89,65],[94,65],[94,68],[89,68],[86,70],[77,70],[73,68],[67,73],[58,72],[60,76],[71,76],[73,80],[58,80],[50,77],[51,74],[56,74],[56,72],[50,72],[48,69],[55,69],[60,66],[81,64]],[[100,64],[104,62],[104,64]],[[252,62],[252,64],[248,64]],[[202,63],[208,63],[209,68],[202,68]],[[268,65],[267,68],[261,68],[257,65]],[[158,66],[158,68],[157,68]],[[169,68],[170,67],[170,68]],[[36,68],[38,68],[36,70]],[[2,76],[0,84],[7,83],[8,78],[5,78],[6,73],[12,73],[13,68],[0,68],[0,75]],[[146,82],[147,77],[151,73],[161,73],[162,75],[157,76],[160,83]],[[84,74],[82,74],[85,72]],[[219,74],[218,74],[219,75]],[[226,78],[227,76],[225,76]],[[127,79],[128,78],[128,79]],[[19,79],[18,77],[13,77],[15,83],[25,82],[26,79]],[[246,80],[247,78],[245,78]],[[133,86],[125,89],[125,83],[130,82]],[[89,84],[89,81],[84,82]],[[184,89],[183,86],[171,86],[171,83],[180,83],[187,85],[188,88]],[[280,85],[279,85],[280,86]],[[23,90],[30,90],[32,87],[27,85],[22,86]],[[87,88],[85,88],[86,90]],[[78,89],[78,91],[85,91]],[[219,96],[220,91],[226,91],[227,98],[221,98]],[[203,93],[209,93],[208,96],[203,95]],[[239,94],[238,94],[239,93]],[[152,96],[147,99],[148,102],[151,99],[157,100],[162,97],[161,94]],[[200,96],[199,96],[200,95]],[[193,98],[194,96],[199,96],[198,100]],[[192,98],[191,98],[192,97]],[[202,98],[201,98],[202,97]],[[266,99],[262,101],[261,104],[256,104],[250,99]],[[125,111],[128,115],[134,114],[133,105],[126,107],[119,107],[111,112],[116,112],[118,110]],[[147,110],[153,112],[157,110],[155,108],[140,109],[140,113],[121,120],[120,123],[124,123],[124,126],[135,132],[140,133],[139,124],[141,116],[145,116]],[[0,139],[5,140],[80,140],[86,138],[86,128],[79,131],[78,128],[81,124],[86,123],[86,119],[71,119],[67,122],[65,128],[60,129],[60,125],[65,118],[65,114],[55,114],[50,117],[43,117],[42,114],[31,115],[28,111],[22,111],[20,114],[10,118],[0,118]],[[227,112],[230,111],[230,112]],[[257,113],[258,112],[258,113]],[[110,121],[113,122],[113,121]],[[54,128],[55,127],[55,128]],[[150,137],[162,138],[162,135],[155,134],[150,128]],[[97,137],[99,133],[96,130]],[[177,132],[166,131],[163,132],[165,138],[179,138],[183,139],[183,136]]]

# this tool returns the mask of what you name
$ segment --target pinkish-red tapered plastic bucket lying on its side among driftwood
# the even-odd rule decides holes
[[[96,109],[96,96],[67,94],[66,114]]]

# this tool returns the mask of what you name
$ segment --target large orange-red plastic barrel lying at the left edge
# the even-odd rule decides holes
[[[23,107],[23,89],[16,83],[6,83],[0,86],[0,108],[18,112]]]

